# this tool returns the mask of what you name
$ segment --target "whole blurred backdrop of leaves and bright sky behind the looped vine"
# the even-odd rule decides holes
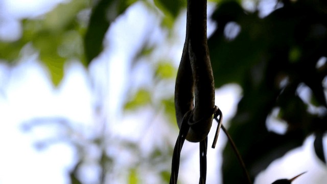
[[[1,0],[0,183],[168,183],[185,8]],[[208,1],[216,105],[254,183],[327,180],[326,10]],[[223,133],[207,154],[207,183],[244,183]],[[198,179],[198,144],[185,143],[179,181]]]

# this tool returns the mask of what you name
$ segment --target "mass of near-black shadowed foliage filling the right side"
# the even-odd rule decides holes
[[[327,130],[327,105],[323,80],[327,64],[317,65],[317,61],[327,55],[327,3],[298,0],[283,1],[283,5],[260,18],[259,12],[246,12],[238,3],[226,1],[212,16],[218,25],[208,40],[215,84],[220,87],[233,82],[243,88],[229,133],[252,179],[312,133],[318,135],[316,154],[325,162],[322,134]],[[241,28],[233,39],[224,35],[230,22]],[[309,103],[299,97],[300,86],[311,89]],[[319,107],[320,113],[309,112],[308,105]],[[288,125],[285,134],[266,128],[274,108]],[[223,153],[223,176],[223,183],[246,182],[228,146]]]

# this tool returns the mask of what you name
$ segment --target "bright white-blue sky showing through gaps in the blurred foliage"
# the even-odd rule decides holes
[[[3,0],[0,2],[0,38],[4,35],[8,36],[10,29],[9,40],[19,36],[19,24],[16,18],[26,16],[37,16],[53,8],[57,3],[64,2],[62,0],[56,1],[13,1]],[[246,1],[245,1],[246,2]],[[248,1],[249,2],[249,1]],[[269,3],[269,1],[267,1]],[[44,10],[44,12],[36,11]],[[38,12],[36,14],[36,12]],[[137,14],[137,16],[136,16]],[[135,20],[135,17],[138,17]],[[143,17],[143,18],[139,18]],[[137,21],[136,26],[134,22]],[[174,52],[170,53],[169,57],[179,62],[182,44],[184,40],[184,25],[183,18],[178,20],[178,24],[182,28],[176,28],[176,34],[179,35],[180,40],[177,40]],[[108,113],[112,124],[111,129],[120,134],[120,136],[130,136],[130,139],[139,139],[142,134],[133,133],[136,128],[144,127],[145,122],[148,122],[147,117],[152,116],[153,110],[149,109],[145,112],[136,112],[128,117],[122,117],[121,99],[122,92],[126,89],[124,85],[129,80],[127,74],[128,70],[128,55],[127,50],[133,50],[139,43],[140,39],[145,36],[143,27],[149,24],[158,24],[156,17],[149,16],[149,12],[141,4],[137,4],[130,9],[127,14],[121,17],[112,30],[107,34],[107,41],[110,44],[116,45],[107,49],[90,67],[90,73],[98,86],[108,86],[107,89],[101,89],[108,94],[105,95],[108,100],[110,109]],[[154,26],[154,38],[159,39],[160,30],[156,30]],[[210,28],[209,28],[210,29]],[[130,33],[133,30],[133,33]],[[15,35],[15,33],[17,35]],[[8,38],[8,37],[7,37]],[[125,40],[125,41],[122,41]],[[126,41],[128,40],[128,41]],[[164,42],[164,40],[157,40]],[[162,48],[167,50],[167,48]],[[24,49],[26,57],[19,65],[14,68],[9,68],[7,65],[0,62],[0,183],[68,183],[67,173],[71,170],[72,165],[76,162],[74,155],[76,150],[71,146],[58,142],[45,149],[35,149],[35,143],[40,140],[51,138],[58,134],[61,129],[54,128],[33,128],[32,131],[24,131],[24,124],[35,117],[63,117],[71,122],[76,122],[74,126],[82,127],[81,134],[91,136],[95,131],[89,127],[94,127],[95,114],[92,111],[92,105],[97,101],[97,97],[92,96],[97,91],[90,90],[90,82],[86,76],[86,71],[78,62],[72,62],[66,66],[66,75],[57,90],[54,90],[49,80],[48,74],[45,73],[44,68],[38,64],[37,55],[30,54],[30,47]],[[115,53],[114,55],[112,53]],[[166,52],[163,52],[166,53]],[[110,60],[108,63],[106,60]],[[109,58],[109,59],[108,59]],[[140,66],[135,85],[146,83],[146,74],[149,68],[144,65]],[[101,76],[101,74],[111,74],[109,77]],[[106,85],[107,84],[107,85]],[[116,90],[110,90],[112,88]],[[173,90],[173,86],[172,86]],[[78,91],[78,93],[76,93]],[[233,113],[241,95],[241,90],[237,85],[224,86],[216,91],[216,104],[223,110],[224,119],[227,121]],[[109,98],[110,97],[110,98]],[[141,118],[139,118],[141,117]],[[131,122],[139,120],[137,127],[131,126]],[[120,123],[118,123],[120,122]],[[160,121],[159,121],[160,122]],[[161,121],[162,124],[166,122]],[[135,123],[134,123],[135,124]],[[128,125],[128,126],[126,126]],[[161,126],[161,125],[156,125]],[[147,135],[146,140],[153,140],[160,144],[160,140],[153,139],[153,134],[157,134],[156,126],[151,127],[153,131]],[[126,130],[130,127],[130,130]],[[213,129],[216,125],[213,124]],[[124,129],[124,131],[123,131]],[[167,130],[162,130],[161,133]],[[139,131],[141,132],[141,131]],[[177,132],[174,132],[177,137]],[[213,140],[213,133],[211,132],[208,141]],[[153,136],[152,136],[153,135]],[[221,183],[220,176],[217,175],[217,168],[221,164],[221,149],[225,144],[226,138],[221,134],[220,143],[216,149],[208,149],[208,173],[207,183]],[[327,140],[324,140],[324,145],[327,147]],[[142,143],[141,143],[142,144]],[[275,160],[274,164],[269,166],[264,171],[255,183],[271,183],[278,178],[291,178],[303,171],[308,171],[307,174],[301,176],[301,179],[295,180],[293,183],[325,183],[327,180],[327,169],[322,166],[315,158],[313,151],[313,137],[310,136],[306,140],[305,146],[289,152],[285,157]],[[144,149],[151,149],[144,145]],[[186,143],[183,147],[183,153],[194,153],[188,156],[188,162],[185,162],[180,167],[180,179],[184,181],[198,182],[198,145]],[[327,157],[327,155],[326,155]],[[124,163],[124,160],[121,160]],[[191,167],[192,166],[192,167]],[[290,167],[291,166],[291,167]],[[190,175],[190,173],[196,173]],[[313,181],[314,179],[314,181]],[[192,182],[192,183],[196,183]]]

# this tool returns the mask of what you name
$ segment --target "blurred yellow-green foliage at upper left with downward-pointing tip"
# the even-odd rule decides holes
[[[0,58],[9,62],[19,59],[19,53],[26,44],[32,42],[39,52],[39,58],[50,72],[54,85],[63,78],[66,60],[83,60],[80,26],[77,14],[86,8],[88,0],[73,0],[59,4],[49,13],[37,19],[22,20],[22,36],[14,42],[1,42]],[[65,15],[65,16],[62,16]]]

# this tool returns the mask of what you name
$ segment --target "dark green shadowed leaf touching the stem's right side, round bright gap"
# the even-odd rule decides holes
[[[267,46],[261,37],[262,20],[255,15],[245,14],[234,1],[221,4],[214,12],[213,19],[219,25],[208,39],[215,86],[226,83],[242,85],[244,76],[260,62],[262,51]],[[224,33],[226,24],[231,21],[238,24],[241,31],[232,41],[226,39]]]

